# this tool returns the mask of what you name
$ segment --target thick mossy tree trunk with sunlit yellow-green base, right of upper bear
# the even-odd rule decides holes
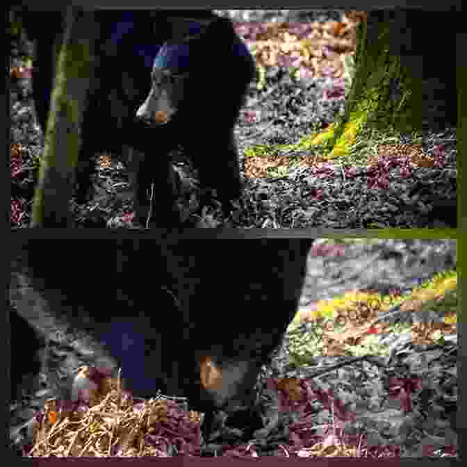
[[[345,114],[329,129],[331,156],[347,154],[363,125],[400,133],[456,126],[456,38],[445,26],[452,16],[375,10],[360,22]]]

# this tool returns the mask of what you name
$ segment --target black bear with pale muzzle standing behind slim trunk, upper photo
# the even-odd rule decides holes
[[[95,10],[85,15],[93,37],[92,71],[81,128],[77,202],[90,195],[95,153],[121,154],[125,148],[137,218],[146,220],[154,182],[154,223],[178,225],[177,184],[167,152],[182,144],[199,171],[202,195],[215,188],[228,210],[227,203],[241,192],[233,126],[255,69],[233,24],[209,10]],[[35,40],[33,97],[45,130],[65,14],[23,8],[16,16]],[[170,76],[171,85],[161,85],[156,76]],[[160,120],[161,111],[154,117],[151,109],[161,105],[162,96],[171,98],[177,112]],[[165,124],[149,126],[148,121]]]

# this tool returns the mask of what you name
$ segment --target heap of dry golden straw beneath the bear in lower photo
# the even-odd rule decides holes
[[[89,379],[89,376],[89,367],[79,368],[77,377]],[[133,401],[129,393],[122,391],[120,370],[117,378],[90,383],[87,396],[86,404],[75,404],[73,409],[60,407],[56,399],[47,400],[42,417],[36,418],[34,445],[26,456],[169,455],[167,437],[158,433],[161,433],[161,425],[167,423],[168,409],[176,405],[173,400],[156,395],[149,400]],[[189,422],[199,423],[199,418],[199,413],[188,413]]]

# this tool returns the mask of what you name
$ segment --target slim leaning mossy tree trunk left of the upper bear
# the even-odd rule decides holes
[[[35,188],[31,227],[72,227],[69,201],[78,163],[80,128],[92,74],[94,14],[67,7],[56,65],[44,157]]]

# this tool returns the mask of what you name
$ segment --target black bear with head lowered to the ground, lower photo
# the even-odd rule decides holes
[[[52,341],[57,329],[93,336],[92,352],[82,352],[85,363],[106,364],[114,374],[122,366],[133,395],[186,396],[191,409],[209,416],[254,404],[261,366],[297,310],[312,240],[17,243],[10,300],[21,320],[11,320],[13,388],[40,350],[23,339],[27,322]],[[77,344],[67,347],[65,338],[60,353],[85,347]],[[73,370],[59,372],[72,377]],[[62,397],[79,396],[76,384]]]

